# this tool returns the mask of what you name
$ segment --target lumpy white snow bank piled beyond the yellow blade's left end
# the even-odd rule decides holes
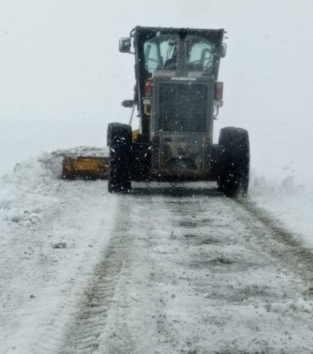
[[[14,172],[0,179],[0,230],[8,224],[30,225],[44,210],[57,209],[61,161],[51,154],[16,164]]]

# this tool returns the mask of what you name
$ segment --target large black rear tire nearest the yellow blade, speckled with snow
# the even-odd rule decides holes
[[[132,127],[115,123],[110,132],[108,191],[130,193],[132,189]]]

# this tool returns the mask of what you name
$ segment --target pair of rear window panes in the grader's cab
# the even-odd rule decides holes
[[[156,36],[144,43],[145,69],[175,70],[177,66],[178,35]],[[200,36],[186,37],[186,67],[189,71],[210,71],[214,64],[215,45]]]

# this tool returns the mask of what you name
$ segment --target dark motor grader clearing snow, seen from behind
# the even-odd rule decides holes
[[[223,128],[213,144],[213,122],[223,106],[218,72],[226,54],[224,33],[136,26],[130,37],[119,40],[120,52],[134,54],[136,82],[134,99],[122,102],[132,109],[129,124],[108,125],[109,158],[98,170],[102,168],[103,177],[109,162],[109,192],[130,193],[132,181],[217,180],[226,196],[246,196],[247,131]],[[140,126],[133,132],[135,109]]]

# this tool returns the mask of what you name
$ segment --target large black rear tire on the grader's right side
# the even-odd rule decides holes
[[[241,128],[222,128],[219,147],[218,190],[227,197],[246,197],[250,167],[248,132]]]

